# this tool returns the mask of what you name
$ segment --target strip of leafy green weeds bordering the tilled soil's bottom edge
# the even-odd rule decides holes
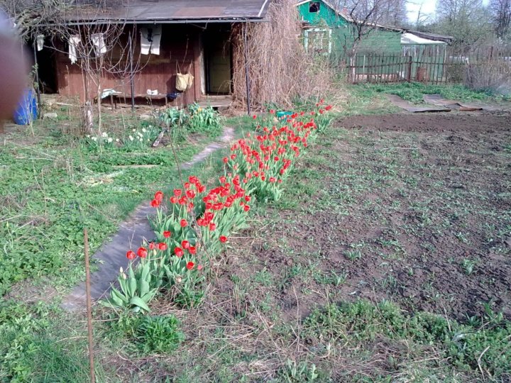
[[[483,325],[477,326],[476,320],[463,325],[432,313],[408,316],[388,301],[356,301],[315,310],[304,321],[304,333],[352,347],[380,336],[434,347],[461,370],[478,372],[483,368],[498,378],[509,371],[511,322],[491,309],[487,312]]]

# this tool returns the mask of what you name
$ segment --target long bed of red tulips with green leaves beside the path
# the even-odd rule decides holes
[[[247,133],[224,157],[224,174],[208,189],[190,176],[171,196],[155,193],[150,205],[155,242],[136,252],[128,250],[127,274],[121,270],[119,289],[113,288],[106,306],[149,311],[149,302],[160,290],[172,292],[176,304],[195,306],[212,257],[219,255],[229,235],[246,228],[254,199],[277,201],[285,179],[320,129],[330,122],[331,106],[321,100],[313,111],[275,117],[254,117],[255,133]],[[134,263],[136,258],[140,262]]]

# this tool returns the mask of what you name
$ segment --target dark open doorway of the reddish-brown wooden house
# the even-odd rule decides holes
[[[207,94],[231,93],[231,44],[229,32],[211,33],[204,41]]]

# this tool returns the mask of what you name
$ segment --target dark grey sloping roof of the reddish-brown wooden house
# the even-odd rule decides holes
[[[119,1],[120,2],[120,1]],[[270,0],[128,0],[98,10],[75,7],[65,14],[68,23],[102,21],[126,23],[192,23],[265,21]]]

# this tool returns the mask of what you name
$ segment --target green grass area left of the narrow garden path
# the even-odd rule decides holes
[[[141,201],[177,179],[170,148],[99,151],[55,133],[57,126],[50,135],[48,127],[35,131],[35,138],[8,135],[0,152],[0,294],[48,275],[57,285],[74,284],[82,270],[83,228],[94,251]],[[179,160],[206,143],[185,141]]]

